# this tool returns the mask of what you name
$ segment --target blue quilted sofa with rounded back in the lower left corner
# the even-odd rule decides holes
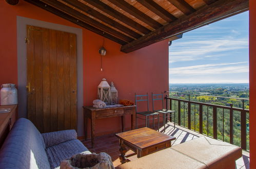
[[[0,168],[58,168],[78,153],[91,154],[75,130],[41,134],[31,121],[20,118],[0,150]]]

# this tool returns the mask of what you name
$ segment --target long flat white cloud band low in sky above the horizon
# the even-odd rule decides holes
[[[248,73],[248,62],[234,62],[222,64],[206,64],[188,67],[170,68],[170,75],[179,75],[180,77],[186,75],[217,75],[217,74],[235,74]]]

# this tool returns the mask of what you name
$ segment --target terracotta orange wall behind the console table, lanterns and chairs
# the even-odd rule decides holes
[[[168,90],[168,43],[162,41],[144,49],[125,54],[120,45],[106,39],[106,56],[103,57],[103,71],[100,69],[100,55],[103,37],[85,30],[84,38],[84,103],[90,105],[96,99],[96,87],[102,78],[114,82],[119,98],[134,100],[134,93],[160,93]],[[151,99],[151,97],[149,97]],[[151,102],[150,102],[151,110]],[[145,110],[144,110],[145,111]],[[130,117],[126,117],[130,128]],[[121,131],[121,118],[96,120],[96,133],[106,134],[114,129]]]

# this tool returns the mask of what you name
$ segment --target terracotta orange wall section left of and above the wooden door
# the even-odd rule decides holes
[[[57,17],[41,8],[20,1],[12,6],[4,0],[0,1],[0,84],[17,84],[17,30],[16,16],[43,20],[50,23],[77,27],[65,19]]]

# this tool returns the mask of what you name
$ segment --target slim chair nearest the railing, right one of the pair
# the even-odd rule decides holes
[[[159,96],[160,96],[160,98],[159,98]],[[154,101],[155,100],[162,100],[162,109],[161,110],[154,110]],[[174,129],[175,129],[175,111],[174,110],[168,110],[167,102],[166,102],[166,109],[164,109],[164,95],[163,95],[163,93],[162,94],[153,94],[152,93],[152,108],[153,108],[153,112],[163,114],[164,132],[165,132],[165,124],[167,122],[168,114],[169,114],[170,119],[171,119],[171,117],[174,119]]]

